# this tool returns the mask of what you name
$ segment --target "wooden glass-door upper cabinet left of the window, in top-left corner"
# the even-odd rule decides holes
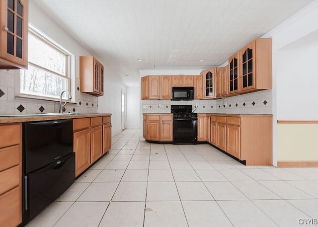
[[[28,68],[28,3],[0,1],[0,69]]]

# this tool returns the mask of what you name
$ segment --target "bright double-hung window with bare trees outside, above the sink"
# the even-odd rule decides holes
[[[59,99],[62,90],[70,91],[70,54],[33,29],[28,39],[29,65],[20,71],[20,94]]]

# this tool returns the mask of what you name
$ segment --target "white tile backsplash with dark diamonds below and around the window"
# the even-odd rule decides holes
[[[58,101],[15,97],[16,70],[0,70],[0,114],[58,113]],[[98,99],[79,92],[79,78],[75,81],[75,103],[67,103],[66,113],[97,113]],[[64,103],[64,102],[63,102]],[[85,104],[84,104],[85,103]]]

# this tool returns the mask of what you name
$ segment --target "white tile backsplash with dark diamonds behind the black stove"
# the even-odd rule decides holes
[[[272,90],[216,100],[142,100],[142,103],[143,113],[170,113],[170,105],[192,105],[195,113],[271,114]]]

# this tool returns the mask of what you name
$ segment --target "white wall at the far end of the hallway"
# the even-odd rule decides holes
[[[140,127],[140,87],[127,87],[127,129]]]

